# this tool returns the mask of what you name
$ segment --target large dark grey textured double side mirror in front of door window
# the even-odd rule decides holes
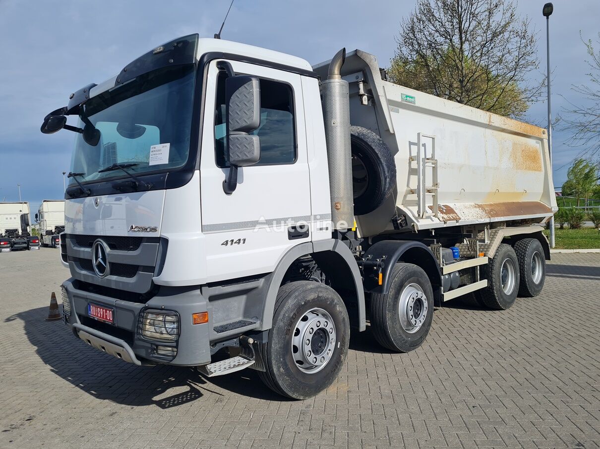
[[[260,126],[260,80],[249,75],[235,75],[225,80],[227,154],[229,175],[223,181],[228,195],[238,184],[238,167],[257,163],[260,138],[248,133]]]

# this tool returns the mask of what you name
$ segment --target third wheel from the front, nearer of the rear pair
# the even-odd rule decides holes
[[[488,265],[481,267],[481,272],[488,286],[474,292],[479,304],[493,310],[506,310],[515,304],[520,274],[517,254],[511,245],[500,244]]]

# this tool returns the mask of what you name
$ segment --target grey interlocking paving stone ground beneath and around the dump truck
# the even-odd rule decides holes
[[[307,401],[100,353],[44,320],[67,277],[51,248],[0,254],[2,448],[600,447],[600,254],[553,254],[508,311],[451,302],[412,353],[356,333]]]

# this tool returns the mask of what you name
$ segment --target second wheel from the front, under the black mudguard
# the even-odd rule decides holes
[[[371,297],[371,329],[380,345],[406,353],[421,346],[429,333],[433,289],[425,271],[412,263],[397,263],[391,277],[389,292]]]

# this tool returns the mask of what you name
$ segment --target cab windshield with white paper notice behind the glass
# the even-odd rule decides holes
[[[83,183],[127,177],[114,164],[128,164],[127,171],[136,175],[184,165],[190,151],[194,72],[193,64],[159,69],[89,99],[79,127],[89,120],[100,131],[100,141],[92,146],[77,135],[71,172],[81,174],[77,178]]]

